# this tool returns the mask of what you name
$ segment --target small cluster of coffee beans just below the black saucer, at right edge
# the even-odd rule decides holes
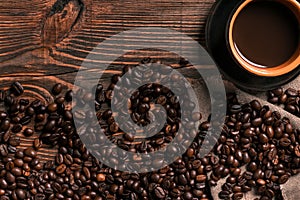
[[[300,90],[277,88],[267,93],[268,101],[282,106],[286,111],[300,117]]]

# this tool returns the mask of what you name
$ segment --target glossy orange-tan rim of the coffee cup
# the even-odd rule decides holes
[[[267,76],[267,77],[274,77],[274,76],[280,76],[287,74],[294,69],[296,69],[300,64],[300,41],[298,41],[298,47],[294,54],[284,63],[270,67],[270,68],[262,68],[255,66],[253,64],[250,64],[247,62],[238,52],[237,48],[234,45],[233,42],[233,26],[235,23],[235,20],[239,13],[251,2],[255,1],[264,1],[264,0],[245,0],[242,4],[238,6],[238,8],[233,13],[232,17],[229,20],[229,31],[228,31],[228,42],[230,47],[230,52],[233,54],[233,57],[236,59],[236,61],[241,65],[242,68],[245,70],[259,76]],[[266,0],[267,1],[267,0]],[[298,20],[300,24],[300,3],[297,0],[275,0],[278,3],[281,3],[282,5],[285,5],[287,8],[289,8],[295,15],[296,19]],[[297,14],[299,13],[299,14]]]

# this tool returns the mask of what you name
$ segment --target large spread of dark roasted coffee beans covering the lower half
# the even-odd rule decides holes
[[[123,74],[130,70],[125,66]],[[22,97],[24,88],[19,82],[0,91],[0,200],[208,200],[212,199],[211,187],[221,178],[226,178],[219,193],[221,199],[241,199],[252,189],[261,199],[271,199],[279,198],[280,184],[299,172],[300,130],[256,100],[241,105],[234,94],[228,94],[222,133],[204,158],[200,148],[205,136],[211,134],[211,124],[209,120],[199,123],[201,113],[188,113],[193,123],[200,124],[199,129],[190,147],[172,164],[149,173],[123,172],[104,165],[87,150],[79,137],[80,128],[74,125],[74,119],[84,122],[93,118],[93,113],[73,112],[74,104],[93,102],[106,137],[134,153],[166,146],[176,135],[179,118],[187,115],[168,88],[159,84],[142,86],[130,99],[132,120],[140,126],[148,125],[153,102],[167,110],[168,118],[158,134],[136,141],[138,138],[118,127],[109,108],[120,78],[113,76],[106,88],[101,83],[96,85],[95,99],[89,91],[74,92],[60,83],[52,88],[54,101],[47,104]],[[195,106],[189,99],[185,102]],[[93,127],[84,131],[93,132]],[[23,149],[19,134],[38,137],[31,147]],[[58,150],[54,160],[41,159],[39,150],[46,146]]]

